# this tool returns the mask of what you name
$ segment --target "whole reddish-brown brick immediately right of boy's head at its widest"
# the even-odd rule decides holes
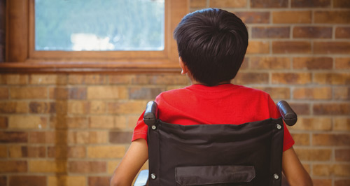
[[[289,38],[290,27],[253,27],[252,38]]]

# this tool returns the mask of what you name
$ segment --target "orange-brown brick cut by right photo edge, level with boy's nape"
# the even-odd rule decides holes
[[[350,85],[350,73],[315,73],[314,83],[321,85]]]

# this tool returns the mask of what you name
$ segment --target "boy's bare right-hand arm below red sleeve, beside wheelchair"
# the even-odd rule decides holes
[[[290,186],[313,185],[309,173],[305,171],[304,166],[302,166],[300,163],[300,160],[297,158],[293,147],[283,152],[282,169]]]

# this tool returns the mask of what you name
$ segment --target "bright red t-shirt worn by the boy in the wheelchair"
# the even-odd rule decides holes
[[[241,85],[190,85],[162,92],[155,101],[159,119],[172,124],[243,124],[281,117],[269,94]],[[137,122],[132,141],[147,140],[148,127],[143,117],[144,113]],[[294,145],[286,125],[284,127],[283,151]]]

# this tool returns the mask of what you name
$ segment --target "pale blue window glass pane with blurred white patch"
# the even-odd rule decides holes
[[[164,0],[35,0],[35,50],[164,50]]]

